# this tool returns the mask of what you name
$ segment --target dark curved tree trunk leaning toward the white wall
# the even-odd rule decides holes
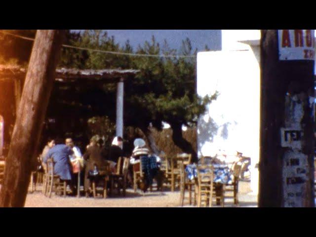
[[[192,154],[192,162],[197,162],[197,153],[190,142],[183,138],[182,123],[169,123],[172,128],[172,140],[184,153]]]

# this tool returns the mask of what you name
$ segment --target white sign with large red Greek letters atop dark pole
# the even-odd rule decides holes
[[[278,30],[279,60],[315,60],[315,30]]]

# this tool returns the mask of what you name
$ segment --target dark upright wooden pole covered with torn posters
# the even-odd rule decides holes
[[[259,207],[314,207],[313,30],[261,31]]]

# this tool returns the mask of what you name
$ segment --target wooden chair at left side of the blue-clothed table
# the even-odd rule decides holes
[[[194,196],[193,196],[193,201],[194,201],[194,205],[196,205],[197,202],[197,195],[196,195],[196,186],[195,186],[195,182],[191,181],[187,178],[186,173],[185,173],[185,165],[184,163],[180,164],[180,205],[183,206],[184,204],[184,199],[186,199],[185,197],[185,191],[186,188],[188,188],[188,192],[189,192],[189,204],[192,204],[192,191],[194,192]],[[193,188],[193,190],[192,190]]]

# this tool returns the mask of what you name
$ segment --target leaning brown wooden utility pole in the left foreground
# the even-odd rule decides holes
[[[0,207],[24,206],[63,37],[60,30],[37,31],[6,158]]]

